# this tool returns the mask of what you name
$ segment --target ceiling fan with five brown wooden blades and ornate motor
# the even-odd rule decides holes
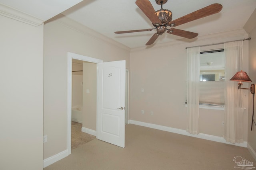
[[[195,12],[192,12],[190,14],[187,14],[183,17],[180,17],[172,21],[172,12],[170,10],[163,9],[163,4],[165,4],[167,1],[168,0],[156,0],[156,4],[161,5],[161,9],[158,11],[155,11],[149,0],[136,0],[135,2],[136,5],[140,8],[140,10],[142,10],[144,14],[146,14],[148,19],[152,21],[152,24],[155,28],[138,29],[138,30],[130,30],[130,31],[116,31],[115,33],[117,34],[134,33],[134,32],[142,32],[142,31],[152,31],[153,29],[156,29],[156,33],[154,33],[154,35],[149,39],[146,45],[153,44],[158,38],[158,36],[165,33],[166,30],[167,30],[167,33],[192,39],[196,37],[198,33],[184,31],[181,29],[173,28],[173,27],[176,27],[183,23],[194,21],[206,16],[210,16],[212,14],[216,14],[222,10],[221,4],[211,4],[200,10],[197,10]]]

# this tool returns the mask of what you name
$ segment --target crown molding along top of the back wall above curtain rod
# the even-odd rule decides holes
[[[184,45],[184,46],[197,46],[197,45],[205,45],[211,43],[221,43],[224,41],[235,41],[237,39],[248,38],[248,34],[244,29],[236,29],[230,31],[224,31],[220,33],[213,33],[208,35],[201,35],[194,39],[177,39],[167,43],[154,44],[150,46],[138,47],[131,49],[131,52],[134,51],[143,51],[143,50],[155,50],[158,48],[166,48],[175,45]],[[228,40],[227,40],[228,39]]]

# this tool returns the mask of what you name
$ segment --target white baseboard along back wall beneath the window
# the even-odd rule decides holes
[[[210,141],[226,143],[226,144],[229,144],[229,145],[236,145],[238,147],[245,147],[245,148],[247,147],[247,142],[233,144],[233,143],[227,142],[223,137],[207,135],[207,134],[204,134],[204,133],[199,133],[198,135],[193,135],[193,134],[188,133],[186,130],[176,129],[176,128],[162,126],[162,125],[155,125],[155,124],[152,124],[152,123],[145,123],[145,122],[135,121],[135,120],[129,120],[129,123],[134,124],[134,125],[144,126],[144,127],[150,127],[150,128],[158,129],[158,130],[162,130],[162,131],[178,133],[180,135],[186,135],[186,136],[190,136],[190,137],[197,137],[197,138],[200,138],[200,139],[206,139],[206,140],[210,140]]]

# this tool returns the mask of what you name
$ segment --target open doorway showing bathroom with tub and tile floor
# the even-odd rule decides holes
[[[94,70],[88,70],[90,65],[94,67]],[[93,71],[94,74],[89,75],[92,75],[92,78],[95,79],[95,83],[92,84],[92,86],[94,86],[92,87],[94,90],[92,88],[90,90],[96,91],[96,63],[72,59],[71,149],[75,149],[76,147],[96,138],[95,135],[91,135],[83,131],[84,127],[86,127],[85,125],[88,123],[88,121],[86,121],[88,117],[86,117],[85,113],[96,112],[96,103],[90,104],[90,102],[93,101],[93,97],[86,94],[88,83],[93,82],[90,80],[90,77],[88,77],[88,72],[91,73]],[[96,93],[94,96],[96,96]],[[88,110],[88,106],[86,107],[86,105],[95,108]]]

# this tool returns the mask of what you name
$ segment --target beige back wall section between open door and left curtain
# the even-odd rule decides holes
[[[186,125],[184,47],[132,51],[130,56],[130,119],[184,129]],[[141,92],[142,88],[144,92]],[[141,110],[144,110],[144,114]],[[150,111],[153,111],[153,115]]]

